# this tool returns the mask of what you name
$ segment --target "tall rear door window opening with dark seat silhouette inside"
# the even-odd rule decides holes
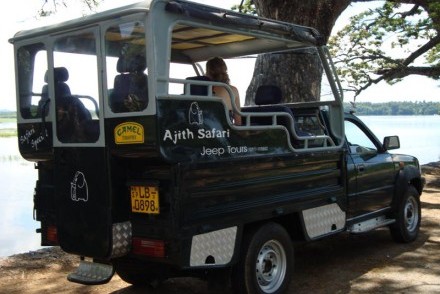
[[[96,40],[83,32],[54,44],[57,136],[63,143],[92,143],[99,137]]]

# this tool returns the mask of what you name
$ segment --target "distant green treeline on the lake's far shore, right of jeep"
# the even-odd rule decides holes
[[[440,115],[438,102],[387,102],[387,103],[356,103],[358,115]],[[344,109],[350,111],[352,105],[344,103]]]

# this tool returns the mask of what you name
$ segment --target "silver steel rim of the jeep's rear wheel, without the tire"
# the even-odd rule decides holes
[[[265,293],[279,289],[286,276],[286,252],[280,242],[270,240],[258,252],[256,277],[258,285]]]

